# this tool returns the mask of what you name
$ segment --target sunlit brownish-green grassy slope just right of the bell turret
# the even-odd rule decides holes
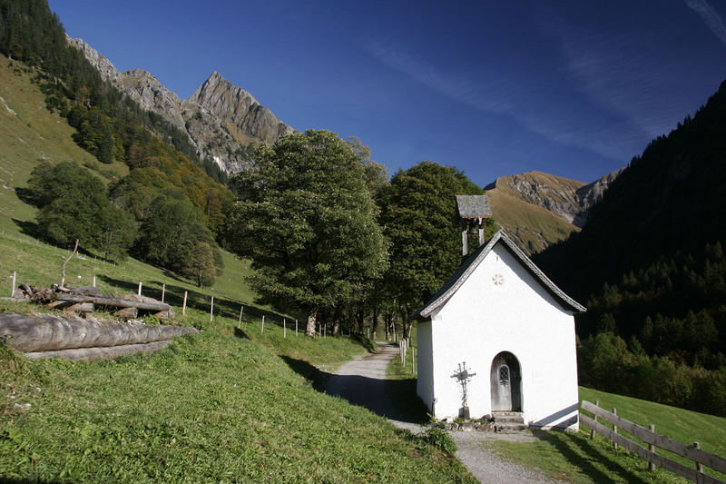
[[[488,190],[495,221],[511,235],[519,247],[532,254],[550,244],[566,239],[580,229],[534,203],[525,202],[511,190],[496,187]]]

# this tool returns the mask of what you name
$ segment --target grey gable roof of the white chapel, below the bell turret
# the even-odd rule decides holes
[[[544,272],[535,265],[535,262],[532,262],[532,260],[526,256],[525,252],[522,252],[522,249],[520,249],[515,242],[513,242],[512,239],[505,234],[504,231],[499,231],[495,233],[495,236],[492,237],[489,242],[479,247],[476,252],[470,254],[466,260],[462,262],[456,272],[454,272],[454,275],[452,275],[448,281],[441,286],[441,289],[437,291],[434,297],[432,297],[424,305],[424,307],[414,312],[411,317],[427,318],[433,311],[443,306],[446,301],[448,301],[462,286],[462,284],[466,282],[466,279],[468,279],[472,272],[476,270],[476,267],[485,260],[486,255],[494,249],[497,243],[501,243],[512,255],[514,255],[515,258],[525,266],[527,271],[535,277],[535,280],[540,282],[557,301],[560,301],[564,308],[574,312],[587,311],[587,308],[579,302],[574,301],[573,298],[558,288],[554,282],[550,281],[550,279],[544,275]]]

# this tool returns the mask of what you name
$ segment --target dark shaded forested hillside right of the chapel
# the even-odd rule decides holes
[[[723,413],[724,198],[726,83],[633,158],[582,232],[535,257],[589,308],[577,319],[583,384]],[[680,387],[664,395],[652,379]]]

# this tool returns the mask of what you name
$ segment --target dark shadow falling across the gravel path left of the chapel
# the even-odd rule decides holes
[[[426,407],[416,395],[416,380],[378,380],[360,375],[337,375],[308,361],[281,357],[289,368],[312,382],[315,390],[340,397],[381,417],[411,423],[427,421]]]

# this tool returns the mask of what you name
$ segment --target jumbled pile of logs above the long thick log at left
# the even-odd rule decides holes
[[[119,298],[103,294],[93,286],[70,288],[54,284],[50,288],[34,288],[20,284],[18,289],[19,291],[15,291],[15,299],[35,301],[46,307],[64,311],[88,313],[103,309],[124,319],[133,319],[145,314],[153,314],[161,321],[168,321],[174,317],[174,310],[169,304],[136,294],[127,294]]]

